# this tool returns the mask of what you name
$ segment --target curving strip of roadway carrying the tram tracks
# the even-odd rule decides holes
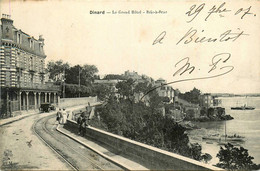
[[[97,153],[56,131],[55,116],[40,119],[35,131],[78,170],[122,170]]]

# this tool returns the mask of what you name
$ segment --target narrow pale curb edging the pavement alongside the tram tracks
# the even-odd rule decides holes
[[[76,142],[80,143],[81,145],[83,145],[83,146],[89,148],[90,150],[92,150],[92,151],[98,153],[100,156],[102,156],[102,157],[104,157],[105,159],[111,161],[112,163],[114,163],[114,164],[116,164],[116,165],[122,167],[124,170],[135,170],[134,168],[130,168],[129,166],[126,166],[125,164],[123,164],[123,163],[121,163],[121,162],[118,162],[118,161],[112,159],[112,158],[109,157],[108,155],[105,155],[104,153],[102,153],[102,152],[100,152],[100,151],[98,151],[98,150],[96,150],[96,149],[90,147],[89,145],[87,145],[86,143],[82,142],[81,140],[79,140],[79,139],[77,139],[77,138],[74,138],[73,136],[71,136],[71,135],[69,135],[69,134],[63,132],[62,130],[59,129],[59,126],[60,126],[60,125],[58,125],[57,128],[56,128],[56,130],[57,130],[58,132],[60,132],[60,133],[64,134],[65,136],[67,136],[67,137],[73,139],[74,141],[76,141]]]

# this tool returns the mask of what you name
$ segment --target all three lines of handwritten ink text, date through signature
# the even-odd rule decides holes
[[[206,3],[201,4],[193,4],[188,11],[185,12],[185,15],[189,17],[187,23],[191,23],[196,20],[196,18],[200,15],[204,18],[204,21],[209,21],[215,19],[214,16],[219,16],[220,18],[225,17],[226,15],[239,16],[241,19],[246,19],[246,16],[256,16],[256,14],[252,10],[252,6],[240,7],[238,9],[234,9],[233,7],[228,7],[226,2],[220,3],[219,5],[207,6]],[[213,30],[214,33],[218,30]],[[237,42],[239,39],[245,38],[246,36],[250,36],[246,31],[237,28],[237,29],[227,29],[226,31],[222,31],[217,36],[210,36],[210,32],[201,29],[198,30],[194,27],[191,27],[183,36],[177,39],[176,45],[188,45],[188,44],[201,44],[201,43],[224,43],[224,42]],[[166,38],[166,31],[160,33],[152,45],[163,44],[163,40]],[[184,57],[180,61],[178,61],[174,67],[176,71],[173,73],[173,78],[175,81],[168,82],[162,84],[158,87],[154,87],[144,94],[146,96],[151,91],[156,90],[157,88],[178,83],[184,81],[194,81],[194,80],[202,80],[202,79],[210,79],[216,78],[223,75],[226,75],[233,71],[234,66],[230,64],[230,58],[232,54],[229,52],[225,53],[217,53],[211,58],[210,64],[208,68],[206,67],[206,71],[201,71],[200,66],[195,66],[190,62],[190,57]],[[205,60],[206,61],[206,60]],[[203,65],[203,64],[202,64]],[[205,64],[203,65],[205,66]],[[205,67],[203,67],[205,69]],[[199,75],[199,76],[198,76]],[[177,76],[179,79],[177,79]],[[185,76],[191,76],[192,78],[185,78]],[[177,80],[176,80],[177,79]],[[144,97],[143,96],[143,97]],[[143,98],[142,97],[142,98]],[[141,98],[141,99],[142,99]]]

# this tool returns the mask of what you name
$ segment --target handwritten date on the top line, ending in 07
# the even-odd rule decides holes
[[[191,19],[187,21],[187,23],[192,22],[199,14],[202,13],[203,10],[205,10],[205,3],[202,3],[200,5],[192,5],[190,9],[185,13],[188,17]],[[225,14],[231,14],[235,16],[240,16],[241,19],[244,19],[245,16],[256,16],[255,13],[251,12],[252,6],[249,7],[242,7],[239,9],[230,9],[226,7],[226,2],[223,2],[220,5],[213,5],[209,10],[206,10],[206,15],[204,20],[207,21],[212,15],[218,14],[219,17],[225,17]]]

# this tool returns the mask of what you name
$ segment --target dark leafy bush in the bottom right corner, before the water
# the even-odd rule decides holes
[[[230,143],[225,144],[224,148],[220,147],[217,157],[219,158],[219,163],[216,166],[223,169],[256,170],[260,168],[259,165],[257,166],[253,163],[254,157],[248,154],[247,149],[234,147]]]

